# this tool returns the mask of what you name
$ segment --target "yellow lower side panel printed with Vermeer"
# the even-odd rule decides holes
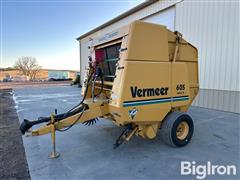
[[[119,110],[112,108],[120,115],[118,120],[161,121],[171,109],[171,63],[130,60],[125,62],[123,91],[119,99],[122,107]],[[133,109],[138,111],[135,117],[129,114]]]

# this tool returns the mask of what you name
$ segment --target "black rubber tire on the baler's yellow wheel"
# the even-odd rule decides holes
[[[188,124],[189,132],[183,140],[177,138],[177,127],[182,122],[185,121]],[[187,145],[192,139],[194,131],[194,125],[192,118],[183,112],[176,111],[171,112],[164,119],[160,128],[160,137],[168,145],[173,147],[182,147]]]

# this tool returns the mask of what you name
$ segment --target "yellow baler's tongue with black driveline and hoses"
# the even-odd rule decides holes
[[[92,99],[86,99],[81,105],[63,114],[52,113],[49,117],[39,117],[35,121],[24,119],[19,129],[22,134],[25,134],[32,126],[46,123],[44,126],[30,131],[31,135],[39,136],[52,132],[51,125],[54,125],[58,131],[70,129],[79,122],[88,126],[93,125],[98,117],[104,116],[106,113],[108,112],[103,101],[92,102]]]

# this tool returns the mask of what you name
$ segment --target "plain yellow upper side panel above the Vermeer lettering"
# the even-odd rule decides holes
[[[165,26],[136,21],[130,28],[127,59],[168,61],[167,45]]]

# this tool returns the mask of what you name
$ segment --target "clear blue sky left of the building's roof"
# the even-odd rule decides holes
[[[76,38],[142,1],[1,1],[1,65],[34,56],[43,68],[79,69]]]

